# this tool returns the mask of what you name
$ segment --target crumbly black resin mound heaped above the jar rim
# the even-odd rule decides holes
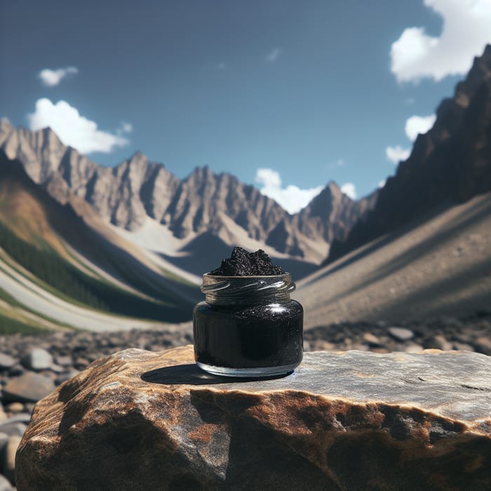
[[[210,271],[214,276],[272,276],[284,273],[281,267],[271,262],[264,250],[249,253],[241,247],[234,247],[231,256],[222,260],[220,268]]]

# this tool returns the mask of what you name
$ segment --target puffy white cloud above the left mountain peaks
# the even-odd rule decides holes
[[[97,123],[81,116],[75,107],[64,100],[59,100],[56,104],[46,98],[37,100],[34,113],[27,114],[27,120],[29,128],[33,131],[49,126],[65,145],[74,147],[81,154],[108,154],[116,147],[123,147],[129,143],[121,134],[113,135],[98,130]],[[130,126],[130,123],[123,123],[123,132],[128,133],[128,130],[133,129]]]

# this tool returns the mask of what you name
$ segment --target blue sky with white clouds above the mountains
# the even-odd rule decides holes
[[[0,0],[0,116],[295,210],[394,173],[485,43],[491,0]]]

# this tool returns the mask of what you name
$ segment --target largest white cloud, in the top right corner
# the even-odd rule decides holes
[[[473,57],[491,42],[490,0],[424,0],[424,5],[443,18],[442,32],[429,36],[424,27],[404,29],[391,46],[391,72],[398,82],[466,74]]]

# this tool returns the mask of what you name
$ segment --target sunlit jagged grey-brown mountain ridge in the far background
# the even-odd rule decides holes
[[[321,262],[330,243],[345,238],[376,201],[376,194],[352,201],[330,182],[309,206],[290,215],[229,173],[216,175],[203,167],[180,180],[141,152],[103,167],[62,144],[50,128],[31,132],[5,119],[0,147],[60,203],[76,196],[116,227],[136,231],[149,217],[175,238],[207,233],[231,245],[241,241],[238,225],[248,238],[280,255],[311,263]]]

